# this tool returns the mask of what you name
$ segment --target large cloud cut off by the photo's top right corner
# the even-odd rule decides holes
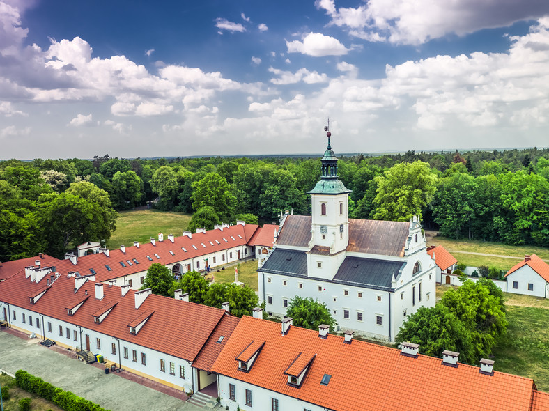
[[[368,41],[419,45],[449,33],[463,36],[481,29],[506,27],[549,13],[539,0],[433,1],[369,0],[357,8],[337,8],[334,0],[316,0],[331,24]]]

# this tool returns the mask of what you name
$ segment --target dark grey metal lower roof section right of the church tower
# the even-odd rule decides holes
[[[391,280],[406,265],[401,261],[375,260],[373,258],[346,257],[333,281],[369,288],[392,288]]]

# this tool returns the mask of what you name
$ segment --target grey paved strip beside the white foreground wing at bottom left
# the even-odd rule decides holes
[[[59,347],[52,350],[40,346],[39,339],[21,339],[12,335],[12,331],[0,332],[0,369],[10,374],[24,369],[112,411],[201,410],[116,373],[105,374],[103,368],[98,369],[57,352]]]

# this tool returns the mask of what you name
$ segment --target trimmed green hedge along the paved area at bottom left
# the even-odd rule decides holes
[[[108,411],[100,405],[72,394],[70,391],[63,391],[61,388],[56,388],[49,382],[45,382],[40,377],[35,377],[24,370],[19,370],[15,373],[15,383],[17,387],[37,394],[47,401],[51,401],[61,410],[65,411]]]

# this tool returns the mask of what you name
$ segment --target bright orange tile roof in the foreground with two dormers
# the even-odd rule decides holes
[[[235,357],[250,341],[265,346],[249,373],[238,371]],[[287,384],[284,371],[304,348],[316,353],[300,388]],[[291,327],[281,335],[281,325],[242,317],[212,371],[264,387],[330,410],[355,411],[367,404],[370,410],[529,410],[535,389],[530,378],[494,371],[479,373],[479,367],[444,366],[440,358],[401,355],[400,350],[329,334]],[[332,378],[321,385],[325,374]],[[440,387],[467,387],[467,391]],[[545,396],[536,394],[543,404]],[[362,407],[361,407],[362,405]],[[302,408],[307,405],[302,405]]]

